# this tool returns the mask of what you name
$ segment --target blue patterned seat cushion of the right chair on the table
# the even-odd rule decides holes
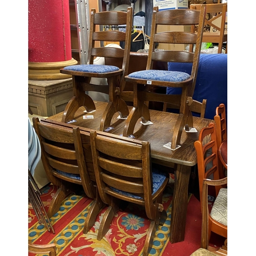
[[[185,72],[167,70],[142,70],[133,72],[128,76],[131,78],[168,82],[182,82],[190,77],[190,75]]]

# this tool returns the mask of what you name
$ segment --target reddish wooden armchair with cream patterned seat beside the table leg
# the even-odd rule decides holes
[[[215,188],[211,191],[211,196],[215,198],[214,205],[212,206],[210,214],[207,215],[207,221],[204,223],[205,225],[208,223],[207,242],[209,242],[211,232],[215,232],[227,238],[227,179],[224,178],[224,180],[219,181],[220,168],[216,137],[215,123],[210,123],[208,127],[204,127],[200,131],[199,139],[194,143],[197,152],[202,212],[205,210],[203,204],[208,205],[208,199],[203,197],[203,186],[207,184],[213,185]],[[218,182],[216,180],[218,180]],[[207,192],[208,191],[204,193]],[[207,200],[207,203],[205,200]]]

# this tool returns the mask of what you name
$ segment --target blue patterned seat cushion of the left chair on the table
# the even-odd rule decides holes
[[[109,73],[118,71],[119,68],[115,66],[108,65],[73,65],[63,68],[65,70],[78,71],[78,72],[90,72],[90,73]]]

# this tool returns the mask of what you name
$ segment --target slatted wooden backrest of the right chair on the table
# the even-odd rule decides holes
[[[198,71],[204,18],[205,6],[201,6],[200,11],[190,9],[159,11],[158,7],[154,7],[146,70],[153,69],[154,61],[193,63],[191,70],[191,77],[194,79],[193,88],[191,89],[193,94]],[[157,32],[159,25],[177,25],[177,31],[169,31],[166,26],[166,31]],[[179,25],[198,25],[198,33],[178,31]],[[175,50],[156,51],[155,46],[160,43],[170,45],[191,44],[196,45],[196,47],[194,53]]]

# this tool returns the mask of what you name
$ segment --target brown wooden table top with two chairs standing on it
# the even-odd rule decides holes
[[[99,130],[101,116],[108,102],[94,102],[96,105],[96,111],[93,113],[84,113],[84,108],[79,108],[74,117],[76,122],[72,124],[93,130]],[[131,109],[132,106],[129,106],[129,111]],[[58,113],[49,117],[48,119],[61,122],[62,114],[63,112]],[[84,115],[93,115],[94,118],[83,119]],[[134,130],[135,133],[133,134],[135,139],[149,141],[151,143],[152,158],[157,159],[157,161],[160,160],[162,165],[168,166],[168,163],[170,162],[194,166],[197,163],[197,154],[194,147],[194,142],[198,139],[199,132],[202,127],[208,126],[208,124],[210,122],[214,122],[214,120],[194,117],[194,127],[198,132],[186,133],[183,130],[180,142],[181,147],[177,148],[175,151],[172,151],[163,145],[172,140],[173,130],[178,118],[178,114],[150,110],[150,115],[151,122],[153,122],[153,124],[143,125],[140,123],[141,119],[137,121]],[[109,133],[122,135],[125,120],[117,119],[118,116],[118,113],[113,116],[111,127],[114,127],[114,129],[110,130]]]

